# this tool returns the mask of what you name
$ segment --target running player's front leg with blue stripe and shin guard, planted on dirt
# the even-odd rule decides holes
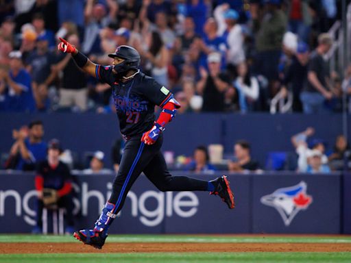
[[[101,249],[107,237],[108,228],[123,207],[125,197],[127,197],[132,184],[134,184],[134,181],[141,174],[143,168],[152,160],[159,149],[159,143],[145,145],[140,141],[140,138],[128,140],[125,143],[119,172],[112,184],[110,199],[106,202],[101,215],[95,223],[94,229],[77,231],[74,234],[75,238],[85,244]]]

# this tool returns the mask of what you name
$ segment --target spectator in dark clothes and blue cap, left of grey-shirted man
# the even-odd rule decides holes
[[[287,95],[287,90],[293,93],[293,112],[302,112],[302,103],[300,101],[300,93],[302,87],[307,82],[307,66],[309,60],[308,46],[304,42],[298,43],[298,49],[293,56],[291,65],[285,73],[282,80],[282,90]]]

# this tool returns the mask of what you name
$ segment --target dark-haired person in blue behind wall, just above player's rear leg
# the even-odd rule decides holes
[[[193,155],[193,161],[187,166],[186,170],[195,173],[213,173],[216,171],[215,166],[210,164],[208,151],[204,146],[196,147]]]

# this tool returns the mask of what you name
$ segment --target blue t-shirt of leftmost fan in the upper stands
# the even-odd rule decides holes
[[[16,95],[12,90],[8,90],[3,102],[4,110],[10,112],[34,112],[36,103],[33,97],[32,79],[29,73],[22,68],[16,76],[10,71],[10,77],[14,82],[21,85],[23,90],[19,95]]]

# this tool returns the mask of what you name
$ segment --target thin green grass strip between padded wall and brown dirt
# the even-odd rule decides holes
[[[1,242],[76,242],[72,236],[0,235]],[[351,236],[195,236],[195,235],[109,235],[106,242],[307,242],[351,243]]]

